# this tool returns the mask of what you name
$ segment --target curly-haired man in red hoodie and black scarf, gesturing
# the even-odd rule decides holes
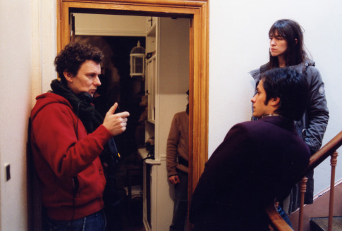
[[[114,104],[103,119],[92,104],[101,85],[99,49],[68,44],[54,64],[60,80],[37,96],[31,145],[45,208],[44,230],[104,230],[106,180],[99,155],[126,130],[128,112]]]

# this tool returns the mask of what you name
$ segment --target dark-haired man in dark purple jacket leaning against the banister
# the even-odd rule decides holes
[[[190,206],[194,230],[269,230],[265,205],[283,201],[309,163],[293,123],[307,97],[307,82],[295,70],[262,75],[251,100],[259,120],[234,125],[205,164]]]

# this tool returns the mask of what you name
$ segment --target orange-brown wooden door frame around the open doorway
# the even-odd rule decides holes
[[[69,42],[69,11],[191,18],[189,196],[208,158],[209,3],[208,0],[57,0],[57,50]],[[191,197],[189,197],[191,198]]]

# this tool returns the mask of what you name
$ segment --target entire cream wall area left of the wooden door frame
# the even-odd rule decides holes
[[[56,78],[55,1],[0,1],[0,31],[0,230],[27,230],[28,118],[34,97]]]

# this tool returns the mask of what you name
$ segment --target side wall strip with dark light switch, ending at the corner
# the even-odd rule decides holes
[[[25,230],[25,142],[31,80],[30,1],[1,1],[0,8],[0,230]],[[4,174],[5,163],[11,165],[8,182]],[[20,219],[13,219],[14,214]]]

